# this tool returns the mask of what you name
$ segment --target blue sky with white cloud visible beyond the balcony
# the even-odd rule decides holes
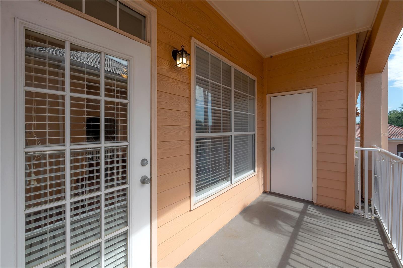
[[[403,29],[393,45],[388,66],[388,111],[399,109],[403,103]],[[361,93],[360,93],[361,95]],[[358,103],[360,103],[358,96]],[[359,107],[359,105],[358,105]],[[357,117],[357,122],[360,118]]]

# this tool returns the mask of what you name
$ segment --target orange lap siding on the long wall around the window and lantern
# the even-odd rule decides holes
[[[159,267],[174,267],[263,192],[263,62],[220,15],[201,1],[150,1],[157,8],[157,166]],[[185,10],[185,12],[183,11]],[[191,37],[258,78],[257,175],[190,210],[191,67],[174,67],[171,51],[192,54]]]

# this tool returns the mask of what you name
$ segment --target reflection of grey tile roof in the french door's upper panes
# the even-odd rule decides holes
[[[58,47],[26,47],[26,49],[32,49],[37,52],[53,54],[55,56],[59,56],[62,58],[66,56],[64,49]],[[71,50],[70,52],[71,60],[75,60],[76,62],[81,62],[83,64],[87,64],[89,66],[98,69],[101,68],[100,57],[101,55],[96,52],[84,52],[77,50]],[[114,74],[123,75],[124,77],[127,77],[127,65],[124,65],[109,57],[105,57],[105,70],[108,72],[112,72]]]

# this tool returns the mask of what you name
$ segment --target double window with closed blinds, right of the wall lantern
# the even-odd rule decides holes
[[[195,46],[195,202],[255,172],[255,80]]]

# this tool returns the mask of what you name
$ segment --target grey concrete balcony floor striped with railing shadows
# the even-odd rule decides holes
[[[377,220],[263,193],[177,267],[399,267]]]

